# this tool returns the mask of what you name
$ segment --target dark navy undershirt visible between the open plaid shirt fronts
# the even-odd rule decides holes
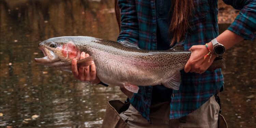
[[[171,0],[156,0],[157,50],[167,50],[170,47],[168,30],[171,21]],[[171,101],[172,89],[163,85],[153,86],[152,103]]]

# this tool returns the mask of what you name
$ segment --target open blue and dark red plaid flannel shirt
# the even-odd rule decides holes
[[[184,40],[177,42],[188,50],[193,45],[204,45],[218,36],[217,0],[195,0],[196,10],[190,21],[190,29]],[[244,39],[253,40],[256,29],[256,0],[224,0],[226,4],[241,10],[228,30]],[[156,8],[155,0],[119,0],[121,10],[121,32],[118,41],[129,41],[142,49],[155,50]],[[183,117],[216,94],[223,85],[221,69],[203,74],[181,71],[182,83],[173,90],[170,101],[170,119]],[[143,76],[141,76],[143,77]],[[140,114],[150,121],[152,86],[139,86],[130,102]]]

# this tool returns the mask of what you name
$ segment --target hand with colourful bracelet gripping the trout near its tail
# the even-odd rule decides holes
[[[208,47],[212,49],[212,43],[208,43]],[[204,56],[209,53],[205,45],[194,45],[192,46],[189,51],[191,51],[191,56],[188,59],[184,71],[188,72],[195,72],[202,74],[204,73],[212,64],[213,60],[216,56],[212,54],[210,62],[208,62],[210,55],[208,55],[205,59]]]

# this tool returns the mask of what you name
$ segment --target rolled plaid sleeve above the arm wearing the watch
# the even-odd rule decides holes
[[[256,36],[256,0],[223,0],[226,4],[240,10],[234,22],[227,28],[246,40]]]

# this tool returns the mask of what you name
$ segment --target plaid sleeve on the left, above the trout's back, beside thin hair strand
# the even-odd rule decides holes
[[[121,13],[121,31],[117,41],[129,41],[138,45],[139,26],[135,0],[118,0]]]

